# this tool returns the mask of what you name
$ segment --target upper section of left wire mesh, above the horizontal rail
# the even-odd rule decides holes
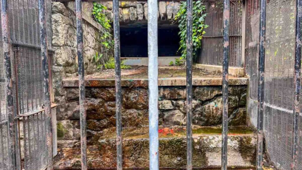
[[[47,40],[51,49],[51,0],[46,0]],[[11,43],[40,47],[39,7],[37,0],[8,0]]]

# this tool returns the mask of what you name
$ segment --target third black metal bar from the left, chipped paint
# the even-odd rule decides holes
[[[86,141],[86,109],[85,109],[85,78],[83,56],[83,26],[82,0],[76,0],[76,36],[79,65],[79,103],[80,103],[80,130],[81,130],[81,167],[87,170],[87,141]]]

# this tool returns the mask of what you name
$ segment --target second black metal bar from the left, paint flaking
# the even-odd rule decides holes
[[[40,46],[43,70],[44,112],[46,116],[47,170],[53,169],[53,135],[51,123],[45,0],[39,0]]]

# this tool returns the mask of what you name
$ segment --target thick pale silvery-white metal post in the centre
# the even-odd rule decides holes
[[[149,168],[159,169],[157,0],[148,0]]]

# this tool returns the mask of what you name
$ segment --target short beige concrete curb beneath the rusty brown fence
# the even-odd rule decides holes
[[[222,66],[216,65],[206,65],[206,64],[194,64],[195,68],[207,70],[209,72],[218,71],[222,73]],[[244,69],[243,67],[229,67],[229,75],[235,77],[243,77],[244,76]]]

